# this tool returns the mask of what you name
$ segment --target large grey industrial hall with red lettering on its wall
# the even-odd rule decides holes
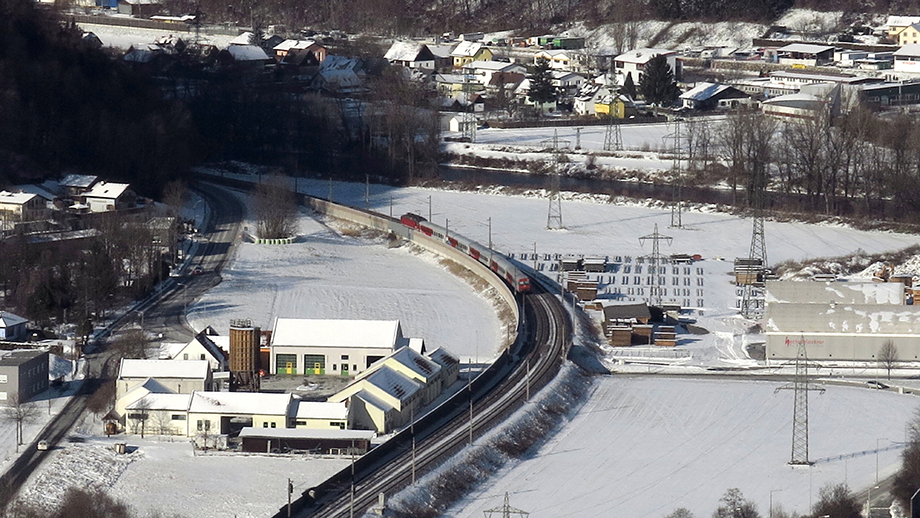
[[[790,360],[804,344],[812,360],[877,360],[890,341],[901,361],[920,360],[920,307],[898,282],[767,282],[766,356]]]

